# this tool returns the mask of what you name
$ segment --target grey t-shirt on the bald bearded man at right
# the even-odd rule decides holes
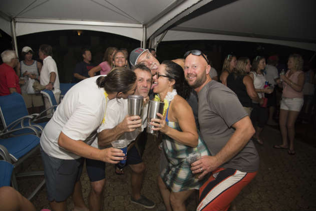
[[[198,93],[198,120],[202,139],[211,155],[216,155],[235,129],[234,123],[247,116],[236,94],[216,81],[210,81]],[[259,155],[250,140],[245,147],[221,167],[242,172],[254,172],[259,167]]]

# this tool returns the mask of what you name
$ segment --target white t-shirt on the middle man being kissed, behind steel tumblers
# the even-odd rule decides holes
[[[142,117],[142,126],[141,130],[136,129],[133,132],[124,133],[119,139],[125,139],[127,143],[131,143],[134,141],[138,134],[144,130],[147,126],[147,109],[148,103],[143,107],[143,112],[141,114]],[[98,128],[98,133],[105,129],[112,129],[119,123],[121,123],[124,118],[128,115],[128,103],[127,99],[113,99],[110,100],[107,106],[106,115],[105,115],[105,123],[102,123]],[[96,139],[91,146],[99,147],[98,140]],[[102,147],[100,147],[102,148]]]

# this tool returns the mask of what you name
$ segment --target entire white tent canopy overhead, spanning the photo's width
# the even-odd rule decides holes
[[[0,26],[16,36],[93,30],[160,41],[232,40],[316,51],[314,0],[3,0]],[[16,46],[17,47],[17,46]]]

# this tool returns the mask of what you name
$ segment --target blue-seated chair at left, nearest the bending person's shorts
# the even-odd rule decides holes
[[[23,130],[23,129],[21,129]],[[36,130],[36,129],[35,129]],[[37,176],[44,175],[44,171],[32,171],[24,173],[16,173],[15,168],[22,164],[28,157],[37,152],[40,148],[39,133],[36,135],[21,135],[10,138],[0,137],[0,155],[9,163],[13,164],[12,186],[19,191],[17,177],[21,176]],[[30,200],[45,184],[45,179],[37,186],[37,188],[28,197]]]

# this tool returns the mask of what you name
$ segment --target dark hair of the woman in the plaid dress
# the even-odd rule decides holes
[[[169,80],[175,80],[173,89],[177,90],[177,93],[187,99],[191,92],[191,87],[188,85],[187,81],[184,79],[184,72],[180,65],[175,62],[165,60],[161,63],[166,67],[166,75],[169,76]]]

